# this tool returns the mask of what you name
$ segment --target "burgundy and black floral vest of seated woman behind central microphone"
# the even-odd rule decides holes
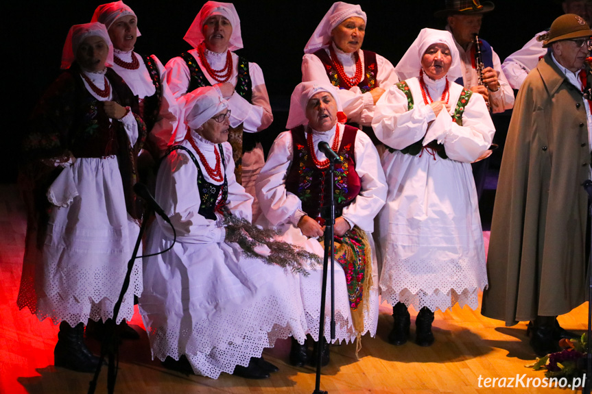
[[[329,185],[326,184],[329,169],[318,169],[309,152],[304,126],[292,129],[292,151],[294,158],[286,177],[286,190],[302,201],[302,209],[315,219],[320,217],[321,208],[329,204]],[[355,136],[357,129],[346,125],[338,149],[343,163],[335,164],[335,217],[340,217],[343,208],[351,204],[359,194],[361,182],[355,172]]]

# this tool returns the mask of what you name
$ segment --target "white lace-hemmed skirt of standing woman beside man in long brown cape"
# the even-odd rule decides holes
[[[471,164],[423,154],[385,153],[389,184],[379,214],[381,295],[416,310],[477,308],[487,286]]]

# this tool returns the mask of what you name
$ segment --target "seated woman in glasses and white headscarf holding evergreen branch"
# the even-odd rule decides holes
[[[211,86],[193,90],[186,100],[189,130],[176,136],[156,178],[156,201],[176,229],[176,243],[144,265],[140,311],[152,356],[166,367],[214,379],[222,372],[268,378],[277,368],[261,358],[263,348],[276,338],[305,339],[298,278],[262,261],[268,255],[277,261],[269,243],[270,249],[245,255],[241,228],[252,235],[255,227],[227,221],[228,214],[249,221],[252,203],[236,181],[226,142],[228,101]],[[146,253],[165,251],[173,242],[170,225],[157,217]],[[284,256],[291,254],[293,249]]]

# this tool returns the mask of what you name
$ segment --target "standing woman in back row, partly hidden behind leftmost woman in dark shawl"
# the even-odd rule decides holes
[[[147,128],[145,149],[158,160],[173,137],[177,120],[176,99],[169,86],[163,83],[165,67],[154,55],[141,56],[134,52],[140,36],[138,17],[123,1],[99,5],[91,21],[103,23],[107,28],[113,42],[112,68],[139,97],[140,115]]]

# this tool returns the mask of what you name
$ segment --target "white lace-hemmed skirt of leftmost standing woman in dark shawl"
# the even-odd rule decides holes
[[[40,320],[72,326],[113,317],[139,233],[126,210],[117,158],[78,158],[50,192],[61,206],[51,210],[43,248],[31,250],[34,239],[27,241],[23,273],[32,273],[34,286],[21,286],[21,308],[28,306]],[[136,260],[118,323],[134,315],[141,270]]]

